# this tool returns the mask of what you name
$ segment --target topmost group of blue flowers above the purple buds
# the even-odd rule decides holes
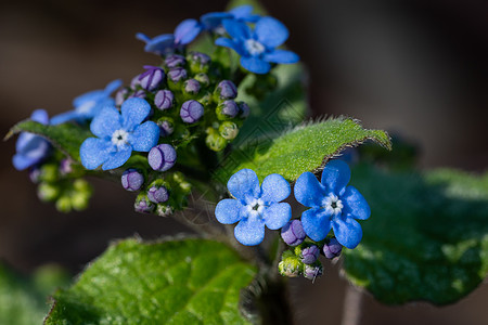
[[[272,64],[299,61],[296,53],[279,49],[288,38],[287,28],[273,17],[253,14],[251,5],[207,13],[200,22],[185,20],[174,34],[150,38],[139,32],[136,37],[145,42],[146,52],[165,55],[181,51],[202,31],[208,31],[215,38],[215,44],[234,50],[241,56],[241,66],[254,74],[268,74]]]

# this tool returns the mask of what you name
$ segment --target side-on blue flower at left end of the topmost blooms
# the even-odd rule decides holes
[[[175,34],[163,34],[150,38],[142,32],[138,32],[136,38],[145,42],[145,52],[164,55],[193,41],[200,35],[202,28],[202,24],[197,21],[184,20],[177,26]]]

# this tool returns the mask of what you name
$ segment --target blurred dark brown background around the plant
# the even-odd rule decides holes
[[[35,108],[50,115],[72,100],[126,83],[144,64],[137,31],[171,32],[183,18],[221,11],[213,1],[2,1],[0,132]],[[488,3],[436,0],[262,1],[291,30],[288,47],[310,69],[313,115],[349,115],[368,128],[421,146],[423,168],[485,170],[488,162]],[[169,219],[131,212],[132,195],[93,182],[85,212],[41,204],[26,172],[11,166],[14,141],[1,144],[0,259],[29,273],[57,262],[77,273],[112,238],[185,231]],[[325,265],[314,284],[292,281],[298,324],[338,324],[346,282]],[[385,307],[367,297],[361,324],[488,324],[487,286],[450,307]]]

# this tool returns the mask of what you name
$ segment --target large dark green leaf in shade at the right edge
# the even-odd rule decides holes
[[[346,276],[385,303],[454,302],[488,273],[488,173],[386,172],[362,166],[352,184],[371,206]]]

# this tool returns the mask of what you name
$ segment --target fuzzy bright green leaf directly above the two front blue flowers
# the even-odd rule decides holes
[[[251,168],[260,180],[271,173],[279,173],[288,181],[295,181],[305,171],[319,170],[347,146],[367,140],[391,148],[385,131],[363,129],[357,120],[349,118],[297,127],[280,138],[256,139],[234,150],[216,171],[215,178],[226,183],[234,172]]]

